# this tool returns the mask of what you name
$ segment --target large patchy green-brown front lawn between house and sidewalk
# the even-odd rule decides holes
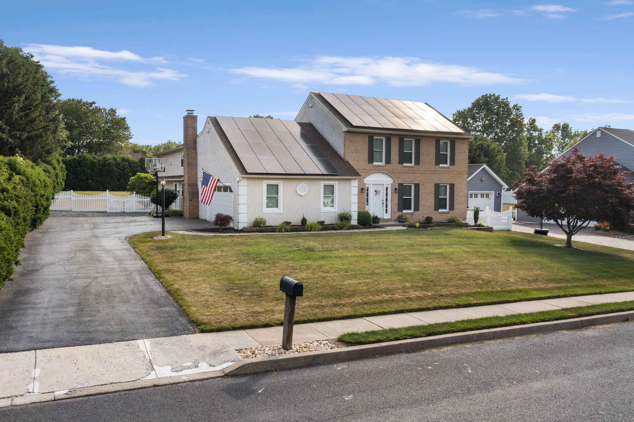
[[[156,235],[130,242],[202,331],[281,324],[285,275],[300,322],[634,290],[632,251],[513,231]]]

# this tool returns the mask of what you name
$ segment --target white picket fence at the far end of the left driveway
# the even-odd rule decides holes
[[[73,191],[55,194],[51,204],[53,211],[101,211],[101,212],[150,212],[153,205],[149,196],[112,195],[105,191],[98,195],[82,195]]]

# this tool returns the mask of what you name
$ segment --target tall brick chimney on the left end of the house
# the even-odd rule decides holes
[[[183,215],[198,218],[198,116],[194,110],[185,110],[183,116]]]

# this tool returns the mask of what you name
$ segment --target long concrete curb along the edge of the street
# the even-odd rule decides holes
[[[615,312],[580,318],[561,319],[559,321],[547,321],[510,327],[480,329],[477,331],[465,331],[394,342],[358,345],[344,348],[316,350],[290,355],[278,355],[261,357],[256,359],[244,359],[222,371],[209,371],[186,376],[169,376],[165,378],[153,378],[152,380],[137,380],[108,385],[96,385],[93,387],[76,388],[64,392],[46,392],[42,394],[23,395],[8,399],[0,399],[0,407],[20,406],[23,404],[46,402],[52,400],[72,399],[75,397],[87,397],[106,393],[138,390],[141,388],[158,387],[160,385],[181,384],[191,381],[211,380],[223,376],[237,376],[279,369],[301,368],[330,362],[349,361],[366,357],[378,357],[408,352],[417,352],[427,348],[443,347],[462,343],[483,342],[498,338],[509,338],[522,335],[549,333],[567,329],[579,329],[601,324],[623,323],[634,320],[634,310]]]

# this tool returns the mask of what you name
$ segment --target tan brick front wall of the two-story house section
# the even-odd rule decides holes
[[[368,136],[391,136],[391,163],[375,165],[368,163]],[[399,137],[420,139],[420,165],[403,165],[398,163]],[[443,167],[435,165],[436,139],[455,139],[455,165]],[[384,173],[394,179],[391,189],[391,220],[401,214],[398,211],[398,193],[394,188],[399,183],[419,183],[419,210],[408,212],[412,222],[422,221],[427,215],[434,217],[434,221],[447,221],[450,215],[457,215],[461,219],[467,218],[467,163],[469,162],[469,140],[464,138],[439,136],[403,136],[399,134],[368,133],[346,131],[344,133],[344,158],[350,162],[361,174],[359,179],[359,211],[365,210],[365,188],[363,179],[373,173]],[[439,212],[434,210],[434,184],[455,184],[454,208],[451,211]]]

